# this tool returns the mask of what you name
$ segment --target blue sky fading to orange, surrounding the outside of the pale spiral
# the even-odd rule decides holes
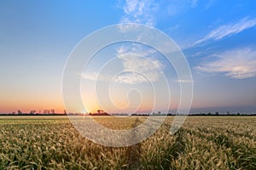
[[[1,1],[0,110],[62,111],[62,71],[73,48],[92,31],[126,22],[177,42],[194,78],[192,107],[255,106],[255,8],[255,0]]]

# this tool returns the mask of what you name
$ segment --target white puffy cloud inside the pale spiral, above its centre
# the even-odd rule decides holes
[[[117,75],[110,75],[107,72],[101,74],[85,72],[83,78],[92,81],[113,81],[128,84],[156,82],[164,68],[160,60],[152,57],[156,53],[155,50],[143,49],[142,45],[138,44],[121,46],[117,49],[116,56],[123,65],[123,71]]]

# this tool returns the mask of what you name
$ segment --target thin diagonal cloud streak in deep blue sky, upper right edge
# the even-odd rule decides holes
[[[256,19],[248,20],[247,18],[239,20],[236,23],[219,26],[218,28],[212,30],[209,34],[207,34],[207,36],[201,38],[200,40],[197,40],[194,45],[198,45],[202,42],[207,42],[210,40],[220,40],[224,37],[237,34],[253,26],[256,26]]]

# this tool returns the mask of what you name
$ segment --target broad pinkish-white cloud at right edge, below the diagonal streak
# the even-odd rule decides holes
[[[236,79],[256,77],[256,50],[241,48],[214,56],[218,59],[196,68],[200,71],[224,73],[225,76]]]

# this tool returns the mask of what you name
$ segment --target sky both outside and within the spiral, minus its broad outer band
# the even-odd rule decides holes
[[[0,112],[63,112],[61,80],[68,56],[91,32],[121,23],[153,26],[177,43],[193,77],[193,109],[255,108],[255,8],[255,0],[1,1]],[[176,109],[178,82],[186,81],[178,80],[162,54],[135,42],[102,48],[86,69],[80,75],[81,97],[84,111],[91,112],[149,111],[154,99],[154,111],[164,111],[160,100],[166,101],[170,87],[171,109]],[[92,89],[96,77],[104,84],[114,71],[124,72],[108,89]]]

